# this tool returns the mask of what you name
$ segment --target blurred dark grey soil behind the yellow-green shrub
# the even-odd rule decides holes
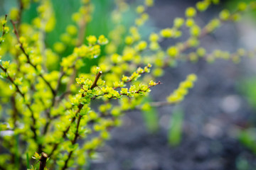
[[[151,18],[159,28],[171,26],[175,16],[183,16],[192,1],[157,1],[151,9]],[[219,7],[218,7],[219,8]],[[217,7],[200,15],[204,24],[214,15]],[[182,12],[182,13],[181,13]],[[170,17],[164,17],[170,16]],[[203,38],[208,50],[220,48],[233,51],[238,47],[236,26],[227,24],[214,35]],[[171,41],[164,45],[170,45]],[[124,115],[124,125],[112,130],[112,139],[100,149],[99,158],[90,169],[97,170],[245,170],[256,169],[256,157],[240,144],[237,129],[246,125],[253,114],[247,101],[238,91],[238,83],[245,72],[245,64],[218,60],[213,64],[179,63],[166,69],[163,84],[152,90],[154,101],[163,101],[187,74],[195,73],[198,81],[180,104],[185,113],[183,138],[178,147],[169,147],[167,130],[174,106],[158,109],[160,130],[154,135],[147,132],[142,114]],[[241,166],[246,160],[247,165]],[[241,167],[244,167],[242,169]]]

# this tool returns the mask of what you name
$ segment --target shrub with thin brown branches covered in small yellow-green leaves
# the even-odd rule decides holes
[[[100,36],[85,36],[93,20],[93,3],[81,0],[65,33],[48,45],[46,39],[56,28],[52,3],[18,0],[18,8],[0,18],[0,169],[84,169],[127,111],[183,101],[196,74],[184,77],[163,101],[144,102],[154,86],[168,86],[157,81],[166,67],[218,58],[239,62],[242,56],[253,55],[243,49],[208,52],[201,47],[201,38],[225,22],[239,21],[242,13],[256,8],[256,2],[242,2],[233,11],[224,9],[206,26],[199,26],[197,13],[219,3],[199,1],[169,28],[142,38],[153,0],[137,6],[137,18],[128,28],[122,18],[129,4],[115,1],[112,30]],[[21,16],[31,6],[36,6],[36,16],[23,23]],[[181,38],[181,28],[190,33],[186,41],[161,47],[166,39]],[[96,65],[91,64],[94,60]],[[82,72],[84,67],[90,72]]]

